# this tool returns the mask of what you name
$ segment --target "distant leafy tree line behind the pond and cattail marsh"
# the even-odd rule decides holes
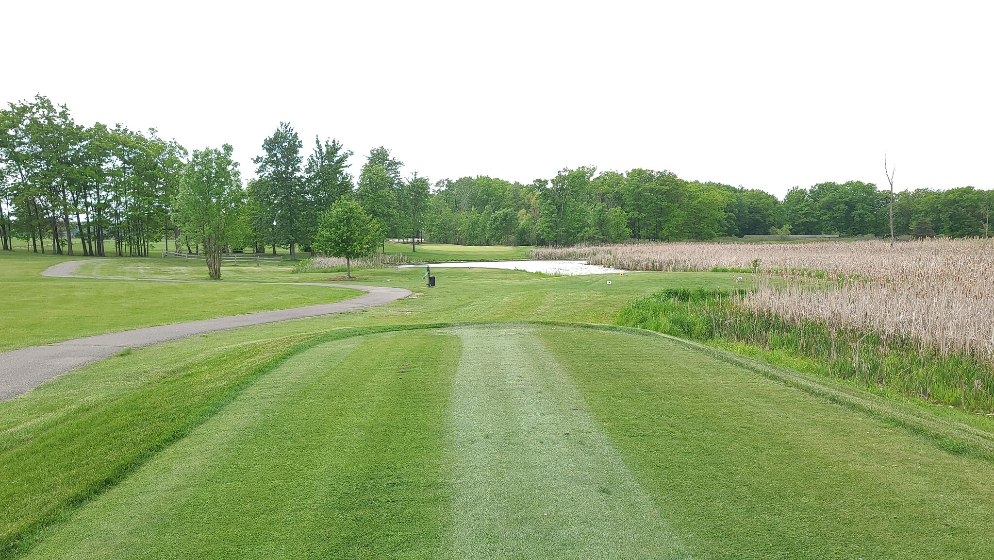
[[[987,237],[989,191],[895,193],[895,236]],[[745,235],[890,237],[890,193],[872,183],[795,187],[783,200],[758,189],[687,181],[669,171],[564,169],[527,185],[485,176],[442,180],[424,236],[467,245],[712,240]]]

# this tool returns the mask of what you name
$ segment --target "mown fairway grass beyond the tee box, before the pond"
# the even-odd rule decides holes
[[[92,263],[82,275],[194,280],[199,267],[166,259],[118,259]],[[406,287],[416,296],[360,313],[300,319],[313,328],[392,325],[472,320],[560,320],[613,323],[618,310],[632,299],[661,287],[723,287],[738,284],[729,273],[635,273],[546,278],[521,271],[438,269],[436,286],[425,287],[421,269],[371,269],[357,280],[335,280]],[[230,281],[328,281],[329,273],[290,274],[280,267],[233,267]],[[335,275],[337,276],[337,274]],[[747,275],[745,275],[747,276]],[[611,280],[608,284],[607,280]]]

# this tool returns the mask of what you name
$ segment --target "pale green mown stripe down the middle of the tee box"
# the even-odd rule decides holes
[[[539,327],[463,327],[448,421],[453,558],[687,558]],[[447,556],[447,555],[446,555]]]

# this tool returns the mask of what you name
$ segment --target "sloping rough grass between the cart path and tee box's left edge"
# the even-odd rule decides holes
[[[118,354],[0,403],[0,552],[183,438],[308,338],[180,350],[168,362]]]

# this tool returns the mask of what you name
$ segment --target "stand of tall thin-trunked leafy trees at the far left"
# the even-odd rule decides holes
[[[0,238],[35,252],[148,255],[187,156],[154,129],[77,124],[45,96],[0,110]],[[46,248],[47,246],[47,248]]]

